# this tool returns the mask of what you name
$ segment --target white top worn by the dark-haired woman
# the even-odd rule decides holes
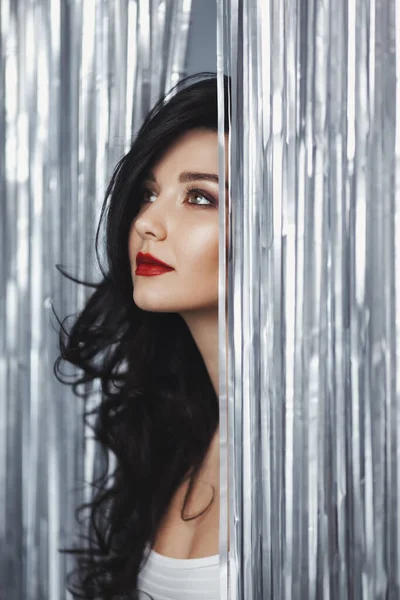
[[[219,554],[171,558],[150,551],[139,571],[140,600],[219,600]]]

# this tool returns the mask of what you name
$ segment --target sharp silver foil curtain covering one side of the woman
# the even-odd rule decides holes
[[[398,599],[400,3],[220,0],[218,69],[230,598]]]

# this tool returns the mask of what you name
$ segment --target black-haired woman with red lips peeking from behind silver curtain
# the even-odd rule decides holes
[[[79,598],[219,597],[216,77],[173,91],[116,167],[99,224],[106,215],[104,278],[85,283],[94,293],[60,331],[57,378],[70,383],[64,360],[83,370],[75,392],[102,384],[85,419],[94,412],[107,467],[79,508],[89,544],[65,550],[79,554],[68,587]]]

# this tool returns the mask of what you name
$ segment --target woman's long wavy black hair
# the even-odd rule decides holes
[[[224,86],[228,132],[227,77]],[[77,508],[77,515],[89,511],[83,547],[62,550],[77,555],[77,567],[67,577],[67,589],[75,598],[137,598],[138,572],[149,555],[146,545],[155,543],[161,519],[185,479],[189,487],[182,518],[197,518],[209,507],[195,517],[184,515],[218,428],[218,397],[182,317],[135,305],[128,256],[141,178],[180,135],[195,128],[218,129],[213,73],[187,77],[161,98],[117,164],[96,233],[100,283],[78,280],[56,265],[64,276],[94,292],[68,331],[66,319],[58,320],[60,355],[54,374],[72,385],[77,396],[84,396],[78,386],[101,383],[101,402],[85,410],[83,418],[104,454],[105,467],[93,482],[92,501]],[[103,220],[106,268],[98,253]],[[78,367],[80,374],[64,380],[62,361]],[[112,473],[110,452],[115,458]]]

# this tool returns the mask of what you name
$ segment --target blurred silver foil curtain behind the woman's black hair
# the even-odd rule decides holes
[[[0,598],[58,600],[96,454],[53,376],[56,320],[97,281],[106,185],[184,74],[191,0],[0,0]],[[91,399],[96,401],[96,398]]]

